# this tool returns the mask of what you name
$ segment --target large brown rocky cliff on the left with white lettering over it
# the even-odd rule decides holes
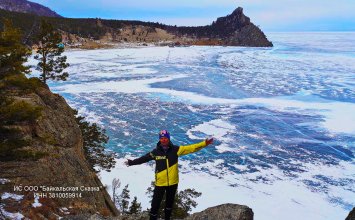
[[[2,106],[0,123],[0,219],[119,214],[85,159],[81,131],[64,98],[24,76],[0,80],[0,87],[0,98],[11,100]]]

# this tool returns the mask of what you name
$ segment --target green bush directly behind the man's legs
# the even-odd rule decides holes
[[[146,194],[150,198],[153,198],[154,191],[154,182],[151,183],[151,186],[148,187]],[[172,219],[183,219],[189,216],[189,212],[192,208],[196,208],[197,202],[194,200],[197,197],[200,197],[202,193],[197,192],[195,189],[185,189],[179,191],[175,194],[175,200],[173,205],[173,212],[171,214]],[[163,197],[162,204],[165,203],[165,196]],[[161,218],[164,218],[164,210],[160,207],[158,215]]]

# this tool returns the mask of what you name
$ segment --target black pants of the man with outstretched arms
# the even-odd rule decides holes
[[[165,192],[165,220],[170,220],[171,212],[173,211],[173,204],[177,186],[178,184],[171,186],[155,186],[152,200],[152,208],[150,209],[150,220],[156,220],[158,218],[160,203],[163,199]]]

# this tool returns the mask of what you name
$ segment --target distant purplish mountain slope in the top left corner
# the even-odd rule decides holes
[[[43,5],[27,0],[0,0],[0,9],[45,17],[62,17]]]

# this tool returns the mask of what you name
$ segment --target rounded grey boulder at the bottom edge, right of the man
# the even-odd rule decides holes
[[[192,214],[186,220],[253,220],[251,208],[237,204],[223,204]]]

